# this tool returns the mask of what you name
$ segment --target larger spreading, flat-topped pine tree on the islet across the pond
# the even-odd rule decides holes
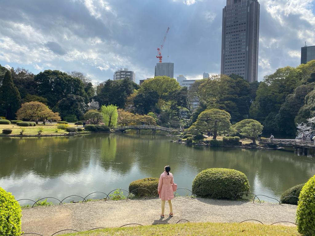
[[[231,115],[219,109],[208,109],[198,115],[197,121],[193,124],[199,131],[209,130],[213,132],[213,139],[216,139],[218,132],[228,132],[231,127]]]

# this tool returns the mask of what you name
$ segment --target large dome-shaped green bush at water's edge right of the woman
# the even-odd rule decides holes
[[[249,182],[246,175],[232,169],[206,169],[201,171],[192,182],[192,193],[197,197],[233,200],[242,198],[242,194],[237,195],[238,193],[248,191]]]

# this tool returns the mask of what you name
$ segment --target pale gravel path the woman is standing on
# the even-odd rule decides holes
[[[191,199],[173,200],[174,217],[159,217],[161,200],[138,199],[120,201],[90,201],[47,207],[34,207],[22,211],[22,230],[25,233],[51,235],[62,229],[89,230],[97,227],[119,227],[128,223],[151,225],[176,223],[180,219],[190,222],[241,222],[260,220],[264,224],[279,221],[295,222],[295,205]],[[165,214],[169,212],[165,204]],[[282,223],[292,226],[292,224]]]

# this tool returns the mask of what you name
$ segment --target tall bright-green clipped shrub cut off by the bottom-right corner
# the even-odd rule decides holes
[[[296,224],[304,236],[315,235],[315,175],[301,190],[296,211]]]

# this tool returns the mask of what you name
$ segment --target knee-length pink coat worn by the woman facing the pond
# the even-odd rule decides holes
[[[159,198],[163,201],[168,201],[174,198],[172,184],[174,184],[173,174],[167,174],[164,171],[160,176],[160,181],[158,182],[157,192],[160,192]]]

